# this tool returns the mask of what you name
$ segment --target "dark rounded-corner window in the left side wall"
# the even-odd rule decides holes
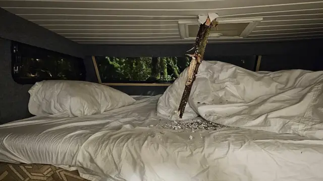
[[[41,80],[85,80],[83,59],[12,42],[12,76],[20,84]]]

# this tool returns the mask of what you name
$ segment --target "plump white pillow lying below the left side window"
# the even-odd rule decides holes
[[[28,91],[28,109],[36,116],[75,116],[101,114],[135,102],[112,87],[86,81],[44,80]]]

